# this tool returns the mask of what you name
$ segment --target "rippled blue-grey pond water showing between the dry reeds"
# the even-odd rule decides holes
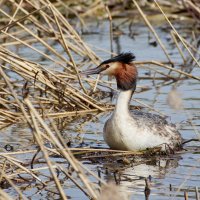
[[[154,42],[154,39],[145,26],[137,25],[133,27],[134,34],[131,35],[128,24],[124,24],[120,29],[122,34],[114,37],[114,52],[131,51],[136,55],[138,61],[167,61],[159,45],[153,46],[149,44],[149,36],[151,42]],[[180,30],[182,29],[183,27],[180,27]],[[83,40],[91,45],[91,48],[94,49],[102,60],[107,59],[109,55],[100,49],[110,49],[108,34],[109,24],[107,22],[103,22],[98,26],[96,24],[91,24],[89,25],[89,30],[95,30],[96,33],[83,34]],[[164,42],[171,59],[177,64],[175,67],[178,68],[179,65],[182,64],[182,60],[178,50],[171,44],[169,34],[162,29],[162,27],[156,28],[156,30]],[[188,33],[188,36],[190,36],[190,33]],[[30,59],[29,52],[21,50],[20,54]],[[33,57],[33,59],[34,61],[37,60],[41,62],[38,57]],[[45,61],[43,62],[45,63]],[[149,70],[139,67],[139,75],[141,77],[148,77],[148,72]],[[192,73],[196,76],[200,76],[200,70],[198,68],[194,68]],[[153,74],[151,74],[151,76],[153,76]],[[176,90],[180,93],[182,98],[184,111],[173,110],[166,103],[168,93],[172,90],[174,85],[176,85]],[[195,126],[196,129],[200,131],[200,84],[197,80],[186,79],[180,81],[178,84],[165,84],[163,80],[153,81],[149,79],[140,79],[138,86],[133,100],[131,101],[132,105],[139,105],[134,99],[148,104],[151,108],[155,108],[165,115],[170,116],[169,120],[173,123],[178,123],[180,125],[181,135],[184,139],[197,138],[193,127]],[[149,89],[145,92],[140,92],[141,86],[147,86]],[[107,98],[103,101],[105,103],[114,103],[115,98],[112,100]],[[148,108],[145,110],[150,111]],[[86,117],[78,118],[70,124],[63,132],[63,135],[66,134],[66,137],[71,136],[74,146],[83,145],[94,148],[107,147],[103,140],[102,130],[109,116],[110,113],[100,113],[98,115],[87,115]],[[193,126],[190,122],[192,122]],[[31,140],[31,135],[24,130],[25,127],[22,125],[9,127],[6,130],[6,134],[0,135],[0,139],[2,142],[15,144],[16,149],[18,146],[20,148],[27,146],[27,143]],[[2,145],[3,144],[4,143],[2,143]],[[34,149],[34,146],[32,148]],[[113,165],[111,165],[111,162],[93,163],[87,161],[87,159],[85,159],[83,163],[96,174],[97,169],[100,170],[103,179],[113,181],[113,172],[120,167],[121,181],[119,185],[122,186],[122,191],[128,193],[131,199],[134,200],[145,199],[144,178],[148,178],[150,183],[151,193],[149,199],[184,199],[183,189],[188,190],[190,199],[196,199],[194,190],[195,187],[200,187],[200,153],[193,153],[193,151],[190,150],[200,149],[200,144],[198,142],[191,142],[187,144],[185,148],[188,151],[184,153],[163,158],[141,159],[141,161],[133,162],[131,165],[123,166],[123,170],[122,164],[118,164],[116,160],[113,160]],[[105,170],[106,168],[108,173]],[[48,193],[35,190],[36,189],[33,188],[31,190],[26,189],[24,192],[32,199],[50,198]],[[11,192],[11,194],[14,193],[14,191],[8,192]],[[72,199],[87,199],[87,197],[75,187],[67,188],[67,183],[66,193]]]

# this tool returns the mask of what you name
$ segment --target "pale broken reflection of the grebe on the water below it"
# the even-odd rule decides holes
[[[167,173],[174,171],[178,167],[180,159],[181,157],[138,158],[127,167],[113,161],[114,163],[103,164],[101,172],[107,181],[114,181],[129,192],[144,195],[145,179],[147,179],[150,189],[161,187],[161,183],[155,182],[155,180],[164,179]]]

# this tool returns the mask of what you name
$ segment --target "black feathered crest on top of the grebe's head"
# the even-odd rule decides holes
[[[134,60],[135,60],[134,54],[132,54],[130,52],[129,53],[120,53],[118,56],[115,56],[113,58],[110,58],[108,60],[103,61],[101,63],[101,65],[102,64],[108,64],[108,63],[111,63],[111,62],[121,62],[121,63],[129,64]]]

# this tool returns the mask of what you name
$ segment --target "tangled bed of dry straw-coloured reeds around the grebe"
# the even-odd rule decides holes
[[[195,67],[200,67],[198,47],[178,33],[170,20],[177,20],[179,16],[174,13],[178,11],[183,11],[181,17],[184,19],[199,19],[198,2],[177,1],[174,5],[174,1],[154,1],[141,5],[133,0],[124,3],[121,10],[117,3],[114,6],[111,2],[91,2],[88,5],[87,1],[1,1],[0,130],[2,134],[6,127],[24,124],[30,130],[32,138],[26,149],[12,151],[12,146],[7,145],[0,152],[2,199],[14,198],[4,190],[7,188],[12,188],[17,198],[27,199],[27,187],[36,185],[38,192],[51,193],[54,198],[68,199],[69,188],[76,187],[88,199],[101,199],[99,190],[102,186],[106,187],[107,183],[98,173],[87,168],[82,163],[83,160],[95,162],[96,159],[106,159],[110,162],[110,159],[120,158],[124,165],[129,165],[132,158],[137,156],[160,155],[159,148],[144,152],[72,148],[61,134],[62,129],[59,127],[63,121],[69,123],[77,116],[96,115],[114,107],[100,101],[109,96],[110,90],[116,90],[112,80],[106,81],[99,76],[81,77],[79,74],[82,69],[101,62],[93,48],[86,44],[78,33],[85,28],[87,18],[95,15],[98,20],[109,20],[111,49],[107,52],[114,55],[114,17],[124,15],[124,23],[132,24],[133,20],[129,14],[140,14],[141,18],[134,20],[144,20],[168,60],[135,61],[138,68],[145,68],[154,74],[151,77],[141,76],[140,79],[161,80],[165,83],[178,83],[183,79],[200,80],[200,77],[192,73]],[[169,9],[172,3],[173,9]],[[119,5],[121,4],[120,2]],[[147,10],[150,12],[149,9],[151,12],[160,12],[159,15],[169,24],[171,39],[183,63],[173,62],[159,34],[153,28],[153,23],[145,14]],[[72,20],[69,20],[70,18]],[[75,22],[81,27],[78,31]],[[119,24],[118,28],[122,24]],[[28,57],[24,56],[24,51],[29,52]],[[149,89],[140,87],[138,92]],[[138,109],[153,109],[139,100],[134,101],[140,105]],[[114,176],[117,183],[115,173]],[[198,196],[198,192],[196,193]],[[185,199],[186,196],[187,192]]]

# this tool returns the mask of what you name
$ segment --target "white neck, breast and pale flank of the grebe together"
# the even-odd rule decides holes
[[[137,120],[134,120],[128,109],[131,95],[131,91],[120,92],[115,111],[104,126],[106,143],[112,149],[131,151],[143,150],[162,144],[163,148],[165,148],[165,144],[174,148],[176,143],[172,138],[178,132],[174,133],[174,129],[169,125],[163,124],[161,128],[164,131],[162,131],[163,134],[160,134],[159,130],[156,129],[158,126],[149,127],[149,124],[141,123],[143,120],[140,120],[139,124]],[[181,141],[179,133],[175,137]]]

